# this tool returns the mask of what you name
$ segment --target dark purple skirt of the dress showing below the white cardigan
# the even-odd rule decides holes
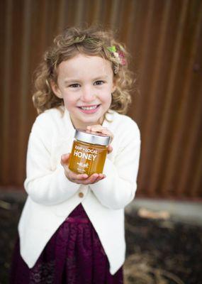
[[[11,284],[123,284],[123,267],[109,272],[99,236],[82,204],[62,223],[35,266],[28,268],[19,252],[13,254]]]

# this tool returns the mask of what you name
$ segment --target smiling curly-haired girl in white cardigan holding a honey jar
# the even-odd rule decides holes
[[[28,199],[18,225],[11,283],[123,283],[124,207],[137,187],[140,131],[125,116],[128,53],[112,33],[67,28],[35,79]],[[111,136],[103,174],[69,170],[75,129]]]

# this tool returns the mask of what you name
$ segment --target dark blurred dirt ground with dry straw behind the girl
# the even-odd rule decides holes
[[[9,283],[9,268],[23,202],[0,200],[0,284]],[[125,215],[127,245],[125,284],[201,284],[202,227],[172,219]]]

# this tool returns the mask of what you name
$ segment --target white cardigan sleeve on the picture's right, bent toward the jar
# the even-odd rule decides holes
[[[139,160],[140,131],[137,124],[133,124],[123,135],[123,143],[118,149],[114,163],[106,158],[103,168],[106,178],[90,185],[103,206],[123,209],[133,200],[137,189]]]

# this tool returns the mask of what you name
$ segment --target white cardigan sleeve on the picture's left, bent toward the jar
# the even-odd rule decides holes
[[[58,204],[72,197],[80,185],[67,179],[62,165],[52,170],[50,121],[45,126],[37,122],[33,124],[28,141],[24,187],[33,201],[45,205]]]

